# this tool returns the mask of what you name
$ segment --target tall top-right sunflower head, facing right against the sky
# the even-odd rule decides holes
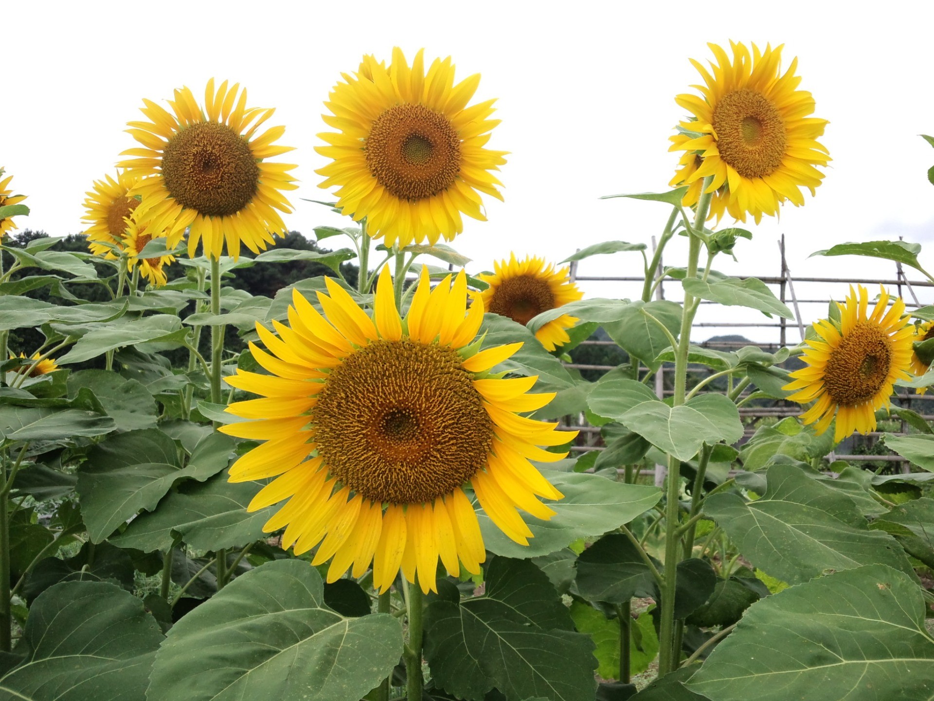
[[[748,212],[758,223],[763,214],[776,215],[785,200],[803,205],[800,188],[814,194],[824,178],[814,166],[827,165],[830,157],[816,140],[824,134],[827,120],[808,117],[814,112],[814,97],[796,90],[801,81],[795,75],[798,59],[783,74],[781,46],[773,50],[767,45],[763,53],[753,44],[750,56],[743,44],[730,42],[732,61],[719,46],[708,46],[719,63],[711,64],[711,75],[691,60],[706,86],[694,86],[702,97],[675,98],[692,116],[680,123],[681,133],[671,137],[669,149],[700,154],[703,162],[696,168],[682,167],[672,186],[691,186],[683,200],[690,206],[701,194],[695,183],[712,176],[710,216],[718,221],[725,210],[742,222]],[[692,166],[684,157],[681,165]]]

